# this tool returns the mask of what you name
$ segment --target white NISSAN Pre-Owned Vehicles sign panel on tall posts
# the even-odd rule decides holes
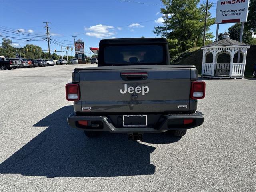
[[[249,0],[221,0],[217,2],[215,24],[247,21]]]

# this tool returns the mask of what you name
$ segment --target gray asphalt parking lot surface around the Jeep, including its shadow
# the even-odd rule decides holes
[[[256,80],[205,80],[205,122],[181,139],[89,139],[66,121],[75,67],[0,71],[0,191],[256,191]]]

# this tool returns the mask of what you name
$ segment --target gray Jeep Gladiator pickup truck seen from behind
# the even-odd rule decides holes
[[[170,65],[165,38],[105,39],[98,67],[75,68],[66,84],[75,111],[68,124],[88,137],[101,131],[128,133],[130,140],[145,132],[184,136],[204,122],[196,111],[204,95],[195,66]]]

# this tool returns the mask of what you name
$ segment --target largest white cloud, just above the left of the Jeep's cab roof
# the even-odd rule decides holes
[[[94,25],[94,26],[90,26],[89,28],[84,28],[86,31],[90,31],[90,32],[86,32],[85,34],[91,37],[96,37],[96,38],[105,38],[105,37],[110,37],[112,35],[115,35],[116,32],[114,32],[112,30],[112,32],[110,32],[110,29],[114,28],[113,26],[110,25]]]

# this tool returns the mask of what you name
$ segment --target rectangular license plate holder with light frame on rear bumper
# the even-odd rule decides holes
[[[147,115],[123,115],[123,127],[146,127],[148,126]]]

